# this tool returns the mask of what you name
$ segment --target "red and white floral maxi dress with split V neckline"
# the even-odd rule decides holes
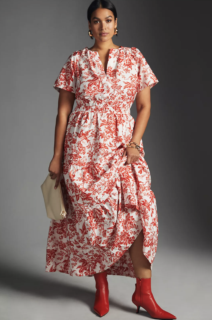
[[[139,49],[110,49],[105,74],[98,52],[73,52],[54,88],[74,92],[63,153],[63,191],[67,219],[51,220],[45,271],[70,276],[135,277],[129,247],[143,228],[143,253],[151,263],[158,243],[156,199],[150,171],[140,158],[124,165],[135,120],[136,93],[158,83]]]

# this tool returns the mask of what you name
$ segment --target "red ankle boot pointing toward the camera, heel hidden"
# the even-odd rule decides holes
[[[94,278],[96,281],[94,311],[102,317],[109,311],[109,289],[107,271],[95,273]]]

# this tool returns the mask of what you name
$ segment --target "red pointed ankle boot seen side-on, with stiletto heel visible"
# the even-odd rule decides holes
[[[135,292],[132,301],[137,306],[136,313],[140,307],[144,308],[153,319],[176,319],[171,313],[161,309],[155,301],[151,292],[151,278],[136,278]]]

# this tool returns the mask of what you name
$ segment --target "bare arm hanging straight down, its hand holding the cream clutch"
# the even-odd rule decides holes
[[[55,189],[59,184],[62,173],[62,156],[68,118],[72,112],[75,101],[75,93],[60,89],[58,98],[58,113],[54,132],[54,155],[49,164],[51,179],[56,178]]]

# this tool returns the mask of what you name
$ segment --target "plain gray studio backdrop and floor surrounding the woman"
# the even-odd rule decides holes
[[[95,317],[93,278],[45,272],[50,220],[40,188],[53,156],[53,84],[69,55],[94,43],[86,18],[90,3],[1,5],[2,319]],[[152,292],[178,319],[205,319],[211,281],[211,1],[113,3],[114,44],[137,47],[159,80],[143,135],[159,220]],[[135,103],[131,114],[136,119]],[[134,319],[135,280],[109,278],[107,318]]]

